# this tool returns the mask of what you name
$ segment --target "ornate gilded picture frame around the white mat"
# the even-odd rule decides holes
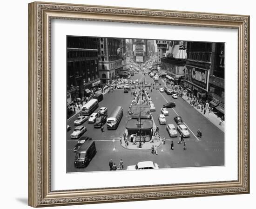
[[[99,20],[238,30],[238,180],[110,189],[50,189],[50,22]],[[28,5],[28,204],[33,207],[249,193],[249,16],[33,2]]]

